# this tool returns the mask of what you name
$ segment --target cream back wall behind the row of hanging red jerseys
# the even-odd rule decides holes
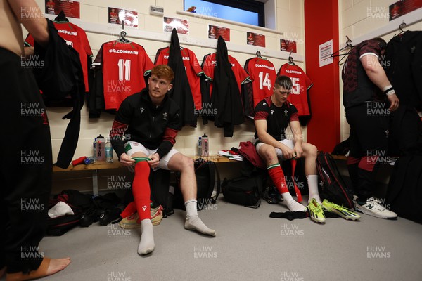
[[[108,22],[108,6],[115,8],[127,8],[138,12],[139,15],[139,27],[133,33],[139,31],[155,32],[155,34],[162,35],[167,32],[162,31],[162,17],[156,15],[149,15],[149,6],[160,6],[165,10],[165,16],[174,18],[184,18],[189,21],[189,35],[191,39],[200,40],[212,40],[215,41],[217,46],[217,40],[207,39],[207,25],[219,25],[222,27],[229,27],[231,29],[231,42],[236,46],[245,48],[245,51],[233,52],[229,51],[229,54],[234,56],[241,65],[244,65],[245,60],[255,56],[255,48],[252,49],[246,45],[246,32],[252,31],[266,36],[266,50],[270,52],[285,53],[281,52],[279,47],[279,39],[293,39],[298,41],[298,55],[305,55],[305,44],[304,44],[304,12],[303,12],[303,0],[276,0],[276,31],[269,32],[263,30],[255,30],[253,27],[243,27],[240,25],[228,24],[224,22],[215,22],[210,18],[199,18],[195,16],[180,15],[177,11],[183,11],[182,0],[80,0],[80,20],[87,25],[89,23],[100,24],[103,27],[109,27]],[[44,1],[37,0],[37,4],[44,11]],[[69,18],[72,22],[72,18]],[[111,29],[118,28],[117,25],[110,27]],[[130,38],[131,28],[127,27],[127,38]],[[283,32],[283,34],[280,34]],[[24,34],[26,35],[26,34]],[[115,38],[114,35],[98,34],[96,32],[87,32],[89,44],[91,45],[92,51],[94,52],[94,58],[98,53],[98,49],[106,41],[110,41]],[[180,36],[179,36],[180,37]],[[170,39],[170,33],[168,35]],[[137,44],[141,44],[145,49],[151,60],[154,61],[155,53],[158,48],[169,46],[168,41],[155,41],[145,39],[132,39]],[[183,42],[181,45],[184,46]],[[229,45],[229,44],[228,44]],[[198,60],[201,60],[207,53],[215,52],[215,48],[202,47],[202,46],[186,46],[196,53]],[[278,52],[277,52],[278,51]],[[248,53],[249,52],[249,53]],[[263,53],[264,55],[265,53]],[[286,63],[286,54],[280,55],[280,58],[269,58],[274,63],[276,70]],[[297,63],[300,67],[305,68],[303,63]],[[56,159],[58,150],[60,149],[61,141],[65,134],[65,128],[67,121],[61,119],[63,115],[68,112],[68,109],[54,109],[49,108],[48,110],[49,122],[51,126],[51,138],[53,143],[53,159]],[[110,127],[113,123],[114,116],[102,113],[100,119],[88,119],[87,107],[82,108],[82,122],[81,131],[79,134],[79,143],[75,152],[75,157],[89,156],[92,155],[92,141],[102,134],[108,136]],[[305,130],[304,130],[305,131]],[[196,141],[198,136],[207,133],[210,136],[210,153],[216,155],[221,149],[231,149],[231,147],[238,147],[240,141],[248,141],[253,138],[255,133],[252,122],[245,122],[241,126],[236,126],[233,138],[224,138],[222,129],[218,129],[211,122],[207,125],[202,125],[202,119],[198,119],[198,127],[191,128],[185,126],[177,136],[177,142],[175,148],[186,155],[194,155],[196,148]],[[305,132],[304,132],[305,133]]]

